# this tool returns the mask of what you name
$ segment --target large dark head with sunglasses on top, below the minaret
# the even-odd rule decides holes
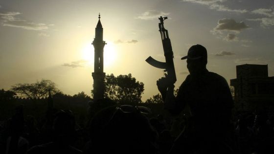
[[[109,107],[91,122],[94,154],[155,154],[157,132],[144,115],[145,108],[130,105]]]

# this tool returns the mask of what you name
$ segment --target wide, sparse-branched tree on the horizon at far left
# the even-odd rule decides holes
[[[56,88],[55,83],[45,79],[32,84],[16,84],[15,86],[12,86],[11,90],[23,98],[29,99],[41,99],[48,97],[49,91],[51,95],[60,92],[60,90]]]

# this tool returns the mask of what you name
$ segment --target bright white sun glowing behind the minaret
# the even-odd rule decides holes
[[[87,43],[82,48],[82,58],[87,61],[89,66],[94,64],[94,47],[91,43]],[[107,42],[104,47],[104,67],[109,67],[116,60],[116,48],[113,42]]]

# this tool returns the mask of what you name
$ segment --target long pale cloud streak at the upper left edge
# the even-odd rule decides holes
[[[0,22],[3,26],[18,27],[27,30],[46,30],[48,25],[45,23],[28,22],[17,18],[20,12],[0,13]]]

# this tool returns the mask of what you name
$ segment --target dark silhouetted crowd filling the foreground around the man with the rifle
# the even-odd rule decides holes
[[[152,116],[147,107],[107,99],[91,102],[90,108],[90,120],[80,124],[70,110],[47,111],[45,119],[36,119],[24,117],[23,106],[17,107],[11,118],[0,122],[0,154],[169,154],[189,125],[185,114]],[[239,112],[231,128],[229,144],[221,143],[228,146],[223,154],[274,154],[270,112]]]

